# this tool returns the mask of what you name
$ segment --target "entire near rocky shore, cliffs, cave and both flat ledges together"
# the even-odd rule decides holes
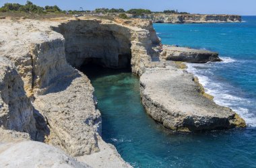
[[[171,130],[245,126],[235,112],[203,97],[193,75],[171,61],[220,61],[218,54],[162,46],[148,20],[79,17],[0,23],[0,158],[5,159],[0,167],[18,166],[14,161],[22,161],[22,155],[11,153],[22,153],[21,146],[34,149],[26,156],[38,156],[49,167],[131,167],[100,136],[94,88],[77,70],[89,62],[131,67],[140,77],[148,114]],[[22,164],[33,167],[37,161],[24,159]]]

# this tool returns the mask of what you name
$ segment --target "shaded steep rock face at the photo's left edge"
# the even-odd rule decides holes
[[[35,140],[33,108],[24,91],[24,83],[12,62],[1,56],[0,95],[0,127],[27,132]]]

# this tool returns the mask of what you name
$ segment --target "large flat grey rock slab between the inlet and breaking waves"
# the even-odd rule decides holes
[[[244,127],[229,108],[218,106],[201,92],[191,73],[167,62],[164,69],[147,69],[140,78],[143,106],[154,120],[175,131]]]

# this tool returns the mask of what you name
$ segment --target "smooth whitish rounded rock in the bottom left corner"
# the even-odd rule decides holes
[[[0,143],[0,167],[89,167],[60,149],[31,140]]]

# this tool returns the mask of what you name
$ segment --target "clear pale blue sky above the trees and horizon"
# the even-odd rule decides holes
[[[36,5],[58,5],[61,9],[143,8],[152,11],[178,9],[190,13],[256,15],[256,0],[30,0]],[[26,3],[26,0],[0,0],[4,3]]]

